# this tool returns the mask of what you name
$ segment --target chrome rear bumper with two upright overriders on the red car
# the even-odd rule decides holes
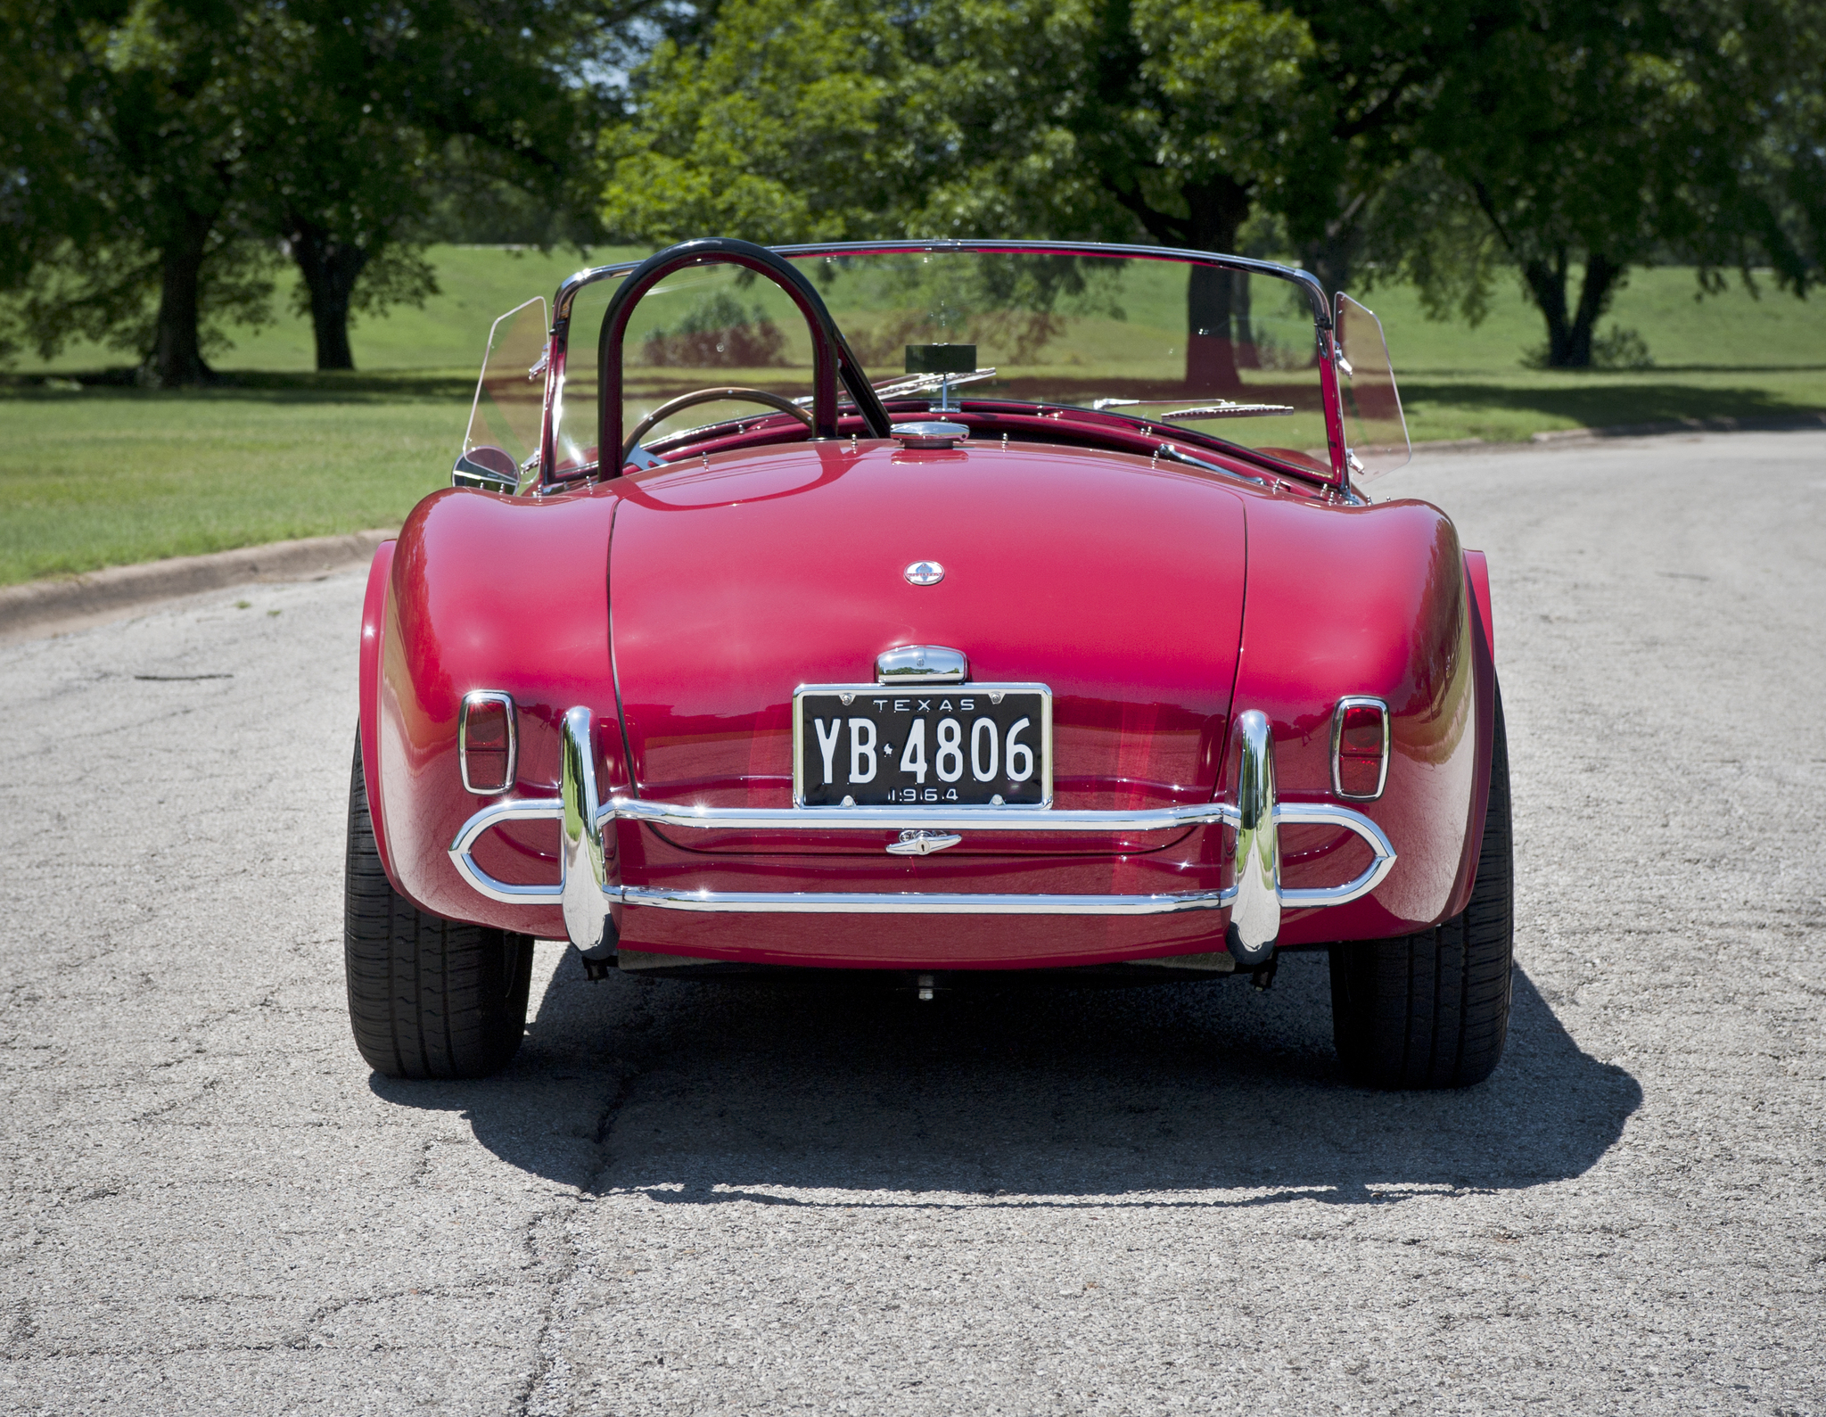
[[[617,911],[650,909],[798,913],[798,915],[1172,915],[1229,909],[1229,950],[1240,964],[1267,959],[1280,933],[1282,909],[1342,906],[1359,900],[1395,866],[1395,849],[1362,813],[1328,802],[1276,802],[1275,743],[1260,712],[1236,716],[1231,734],[1238,760],[1236,802],[1147,811],[1055,811],[1046,807],[971,807],[931,811],[904,807],[685,807],[635,798],[599,800],[593,712],[564,714],[562,783],[557,798],[522,798],[484,807],[456,833],[451,860],[471,887],[511,906],[562,906],[572,942],[586,955],[614,950]],[[562,878],[550,886],[511,886],[477,866],[473,851],[484,831],[506,822],[562,824]],[[1088,831],[1143,833],[1223,824],[1236,829],[1236,882],[1222,891],[1163,895],[995,895],[950,891],[688,891],[623,886],[615,862],[615,822],[707,831]],[[1331,825],[1360,836],[1373,853],[1370,867],[1342,886],[1289,889],[1280,884],[1278,827]]]

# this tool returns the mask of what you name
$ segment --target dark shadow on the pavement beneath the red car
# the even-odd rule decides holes
[[[1642,1103],[1516,971],[1508,1050],[1464,1092],[1371,1092],[1331,1050],[1326,959],[1276,986],[977,988],[582,979],[566,953],[515,1063],[374,1077],[588,1192],[677,1203],[1388,1202],[1578,1176]],[[867,1198],[856,1192],[871,1192]]]

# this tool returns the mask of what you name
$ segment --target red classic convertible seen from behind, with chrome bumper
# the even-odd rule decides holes
[[[455,486],[380,548],[349,1010],[500,1068],[584,971],[1273,979],[1348,1076],[1503,1050],[1485,561],[1375,316],[1265,261],[687,241],[497,321]]]

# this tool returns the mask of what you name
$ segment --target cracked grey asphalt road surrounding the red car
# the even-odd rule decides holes
[[[0,1408],[1826,1412],[1826,435],[1428,457],[1490,553],[1516,1015],[931,1004],[542,946],[513,1068],[343,1012],[362,581],[0,648]],[[236,608],[236,599],[248,608]]]

